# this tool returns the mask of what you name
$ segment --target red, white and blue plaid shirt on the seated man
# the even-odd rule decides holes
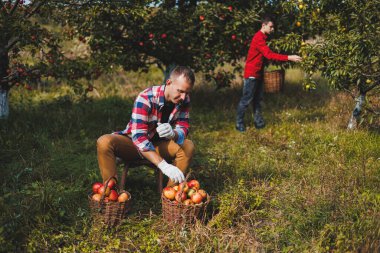
[[[142,91],[136,98],[132,117],[125,130],[117,134],[128,135],[140,152],[155,151],[150,141],[156,134],[157,123],[161,123],[165,102],[165,85],[152,86]],[[182,145],[189,132],[190,97],[175,105],[169,116],[169,123],[177,133],[176,142]]]

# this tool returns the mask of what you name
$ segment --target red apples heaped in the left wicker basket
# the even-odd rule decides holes
[[[129,199],[126,192],[122,192],[120,195],[116,191],[116,181],[111,179],[106,187],[105,184],[96,182],[92,185],[92,199],[95,201],[100,201],[104,193],[104,202],[114,201],[114,202],[125,202]]]

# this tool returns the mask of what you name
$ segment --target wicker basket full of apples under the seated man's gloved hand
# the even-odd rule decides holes
[[[210,196],[197,180],[165,187],[161,194],[162,216],[168,225],[186,226],[205,218]]]

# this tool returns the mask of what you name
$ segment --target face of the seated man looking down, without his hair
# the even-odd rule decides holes
[[[165,98],[174,104],[182,103],[193,86],[186,81],[183,75],[166,81]]]

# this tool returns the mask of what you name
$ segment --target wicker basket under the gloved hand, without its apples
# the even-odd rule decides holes
[[[206,214],[206,207],[210,202],[210,196],[207,194],[207,200],[196,205],[184,205],[176,203],[165,198],[161,194],[162,216],[164,221],[170,225],[187,226],[194,224],[197,220],[203,221]]]

